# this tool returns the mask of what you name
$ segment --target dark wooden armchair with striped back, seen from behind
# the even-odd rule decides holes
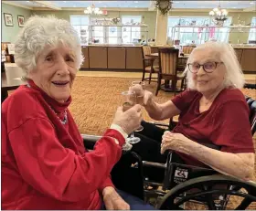
[[[159,71],[157,87],[155,91],[155,96],[157,96],[159,90],[174,91],[176,94],[176,82],[181,80],[181,88],[183,88],[183,83],[185,77],[177,74],[178,68],[178,49],[174,48],[159,48]],[[163,89],[161,80],[165,79],[165,88]],[[171,89],[168,88],[169,80],[172,80]]]

